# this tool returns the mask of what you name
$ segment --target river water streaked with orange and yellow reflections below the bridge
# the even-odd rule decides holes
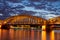
[[[0,40],[60,40],[59,31],[0,29]]]

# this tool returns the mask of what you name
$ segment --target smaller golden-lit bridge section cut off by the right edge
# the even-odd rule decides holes
[[[51,18],[48,21],[50,28],[56,28],[60,30],[60,16]]]

